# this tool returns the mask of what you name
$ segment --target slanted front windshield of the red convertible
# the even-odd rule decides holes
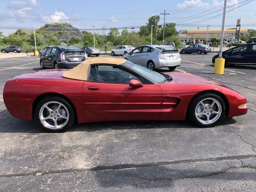
[[[166,81],[165,76],[163,76],[157,72],[154,72],[148,68],[134,64],[131,61],[126,61],[124,64],[122,64],[122,66],[138,73],[140,76],[143,76],[145,79],[148,79],[149,81],[151,81],[155,84],[163,83],[164,81]]]

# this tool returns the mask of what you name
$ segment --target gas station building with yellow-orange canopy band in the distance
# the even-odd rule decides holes
[[[240,35],[246,35],[248,29],[241,29]],[[224,41],[235,40],[236,29],[225,29],[224,30]],[[179,31],[180,41],[186,43],[188,41],[206,41],[207,30],[180,30]],[[208,30],[208,41],[211,41],[212,37],[221,37],[221,30]]]

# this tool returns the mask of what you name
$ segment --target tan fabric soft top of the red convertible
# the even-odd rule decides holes
[[[69,79],[77,79],[77,80],[88,80],[88,70],[91,64],[116,64],[120,65],[125,63],[127,60],[123,58],[111,58],[111,57],[104,57],[104,58],[91,58],[87,59],[75,68],[68,70],[67,72],[62,74],[62,77],[69,78]]]

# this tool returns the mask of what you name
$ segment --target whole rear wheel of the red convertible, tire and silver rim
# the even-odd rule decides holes
[[[49,96],[36,105],[34,118],[47,131],[61,132],[73,125],[75,113],[67,100]]]

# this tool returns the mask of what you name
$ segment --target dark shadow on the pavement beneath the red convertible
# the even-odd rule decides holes
[[[235,119],[228,119],[221,125],[236,123]],[[66,131],[101,131],[125,129],[158,129],[158,128],[198,128],[189,121],[123,121],[123,122],[93,122],[74,124]],[[47,133],[35,121],[16,119],[5,109],[0,111],[0,133]]]

